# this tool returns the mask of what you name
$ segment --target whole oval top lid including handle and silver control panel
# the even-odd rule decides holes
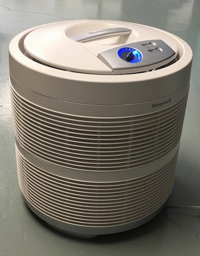
[[[173,37],[143,25],[73,20],[41,26],[24,49],[53,68],[88,74],[132,74],[163,67],[178,54]]]

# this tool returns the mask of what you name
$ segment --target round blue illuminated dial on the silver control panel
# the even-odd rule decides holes
[[[124,47],[119,49],[118,55],[121,59],[131,62],[137,63],[142,60],[142,54],[134,48]]]

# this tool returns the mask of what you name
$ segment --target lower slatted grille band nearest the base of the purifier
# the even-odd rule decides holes
[[[86,182],[48,173],[17,150],[19,185],[31,205],[58,221],[95,227],[138,221],[161,207],[176,160],[177,154],[154,173],[131,180]]]

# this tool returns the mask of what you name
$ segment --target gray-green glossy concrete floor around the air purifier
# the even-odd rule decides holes
[[[49,228],[24,204],[17,182],[8,45],[19,32],[65,19],[117,19],[158,27],[193,50],[191,86],[170,205],[200,205],[199,0],[0,1],[0,255],[200,255],[200,209],[164,209],[136,229],[91,240]]]

